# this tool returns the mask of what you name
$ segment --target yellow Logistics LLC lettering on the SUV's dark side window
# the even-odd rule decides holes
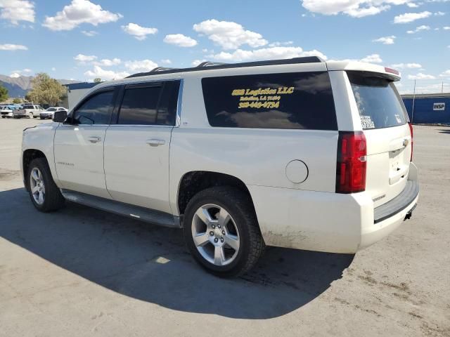
[[[283,96],[294,92],[294,87],[281,86],[279,88],[241,88],[231,92],[233,96],[239,96],[239,109],[251,107],[253,109],[276,109],[280,107]]]

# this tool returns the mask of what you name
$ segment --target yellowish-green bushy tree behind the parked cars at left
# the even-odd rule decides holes
[[[34,103],[55,106],[63,98],[65,92],[65,87],[56,79],[52,79],[48,74],[41,72],[32,79],[32,91],[27,96]]]

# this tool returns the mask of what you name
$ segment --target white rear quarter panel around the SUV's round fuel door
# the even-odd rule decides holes
[[[169,154],[172,211],[179,215],[179,183],[190,171],[226,173],[249,186],[334,192],[337,144],[338,131],[213,128],[201,78],[187,75],[181,126],[172,131]],[[307,165],[303,183],[292,183],[286,176],[286,166],[295,159]]]

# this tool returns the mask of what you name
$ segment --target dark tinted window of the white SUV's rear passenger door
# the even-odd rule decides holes
[[[178,91],[179,81],[126,87],[118,124],[173,126]]]

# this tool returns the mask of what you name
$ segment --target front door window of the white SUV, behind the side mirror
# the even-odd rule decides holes
[[[110,124],[114,91],[103,91],[88,98],[74,114],[75,124]]]

